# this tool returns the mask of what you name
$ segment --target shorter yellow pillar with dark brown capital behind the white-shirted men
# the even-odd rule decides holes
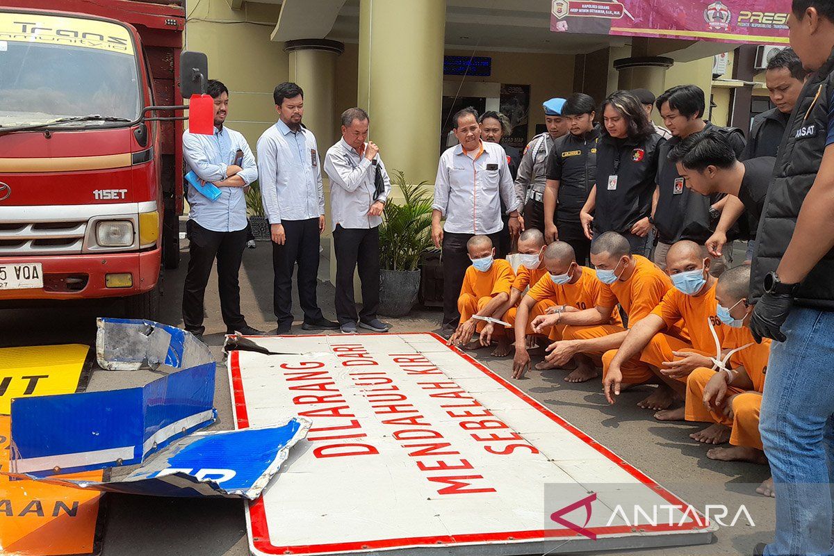
[[[336,142],[336,58],[344,44],[328,39],[300,39],[285,43],[289,53],[289,81],[304,89],[304,125],[315,133],[321,155]]]

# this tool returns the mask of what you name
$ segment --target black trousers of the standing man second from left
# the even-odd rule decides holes
[[[314,323],[322,318],[316,301],[319,278],[319,218],[282,220],[287,238],[284,245],[272,243],[274,278],[274,310],[279,328],[293,322],[293,269],[299,264],[296,281],[299,285],[299,304],[304,311],[304,322]]]

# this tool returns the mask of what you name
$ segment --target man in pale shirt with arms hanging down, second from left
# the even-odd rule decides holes
[[[274,310],[277,333],[289,333],[293,323],[292,278],[299,265],[299,303],[304,330],[339,328],[316,301],[319,276],[319,234],[324,232],[324,186],[319,147],[301,125],[304,91],[281,83],[273,93],[279,120],[258,139],[261,197],[272,232]]]

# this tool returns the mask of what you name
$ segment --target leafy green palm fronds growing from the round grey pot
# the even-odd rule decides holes
[[[420,255],[432,246],[431,203],[425,184],[408,183],[394,170],[395,185],[403,192],[404,203],[386,203],[379,226],[379,264],[385,270],[416,270]]]

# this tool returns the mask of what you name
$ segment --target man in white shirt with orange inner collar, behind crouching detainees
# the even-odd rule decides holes
[[[504,148],[480,140],[475,108],[464,108],[453,119],[460,144],[440,155],[431,216],[431,237],[435,247],[443,249],[443,328],[449,333],[460,320],[458,297],[470,265],[466,242],[488,235],[493,245],[498,244],[504,226],[501,201],[510,215],[510,233],[524,229]]]

